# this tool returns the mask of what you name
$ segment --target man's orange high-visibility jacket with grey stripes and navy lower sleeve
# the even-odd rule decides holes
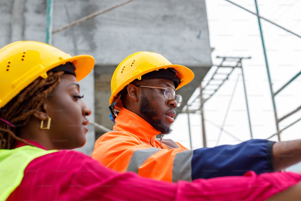
[[[273,171],[273,142],[268,140],[188,150],[163,139],[161,149],[156,140],[160,133],[135,113],[122,108],[115,123],[112,131],[95,142],[92,158],[119,172],[133,171],[143,177],[176,182],[243,175],[249,170],[257,174]]]

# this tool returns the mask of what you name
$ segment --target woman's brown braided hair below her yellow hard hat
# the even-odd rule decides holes
[[[18,137],[18,130],[28,124],[31,115],[42,105],[42,100],[51,95],[61,82],[64,72],[48,72],[47,74],[47,78],[37,78],[1,108],[0,118],[9,121],[15,127],[0,121],[0,149],[12,149],[15,140],[32,145]]]

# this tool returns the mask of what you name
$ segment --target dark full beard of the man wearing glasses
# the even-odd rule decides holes
[[[144,91],[141,93],[141,103],[139,105],[139,111],[142,118],[147,121],[151,126],[161,132],[161,134],[169,134],[172,129],[162,124],[161,119],[155,119],[158,116],[158,110],[155,109],[151,101],[145,96]]]

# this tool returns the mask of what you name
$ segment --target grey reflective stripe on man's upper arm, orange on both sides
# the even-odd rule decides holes
[[[158,148],[140,149],[134,151],[126,171],[138,173],[138,168],[154,153],[160,151]]]

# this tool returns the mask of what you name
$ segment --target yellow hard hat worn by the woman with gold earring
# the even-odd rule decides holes
[[[72,57],[42,42],[17,41],[1,48],[0,108],[38,77],[47,78],[47,71],[66,62],[72,62],[76,67],[78,81],[94,67],[94,58],[90,55]]]

